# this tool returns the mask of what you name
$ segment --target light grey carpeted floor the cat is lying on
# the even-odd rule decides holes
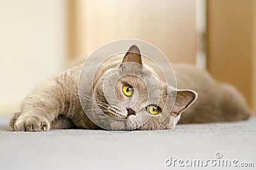
[[[254,167],[247,169],[255,169],[255,148],[255,117],[232,123],[177,125],[175,131],[131,132],[83,129],[12,132],[8,118],[0,117],[1,170],[175,169],[179,165],[177,162],[173,165],[174,159],[205,162],[211,158],[237,159],[238,165],[252,162]],[[187,164],[184,166],[188,167]],[[225,168],[218,164],[217,167]],[[210,168],[211,164],[205,167]]]

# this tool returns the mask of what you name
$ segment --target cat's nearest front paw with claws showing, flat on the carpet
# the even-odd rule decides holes
[[[14,124],[15,131],[41,132],[49,129],[49,121],[36,115],[20,115]]]

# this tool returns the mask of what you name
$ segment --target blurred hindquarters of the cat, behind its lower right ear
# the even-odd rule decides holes
[[[243,96],[234,87],[219,83],[203,70],[189,64],[173,64],[178,89],[191,89],[198,98],[182,113],[179,123],[229,122],[248,118]]]

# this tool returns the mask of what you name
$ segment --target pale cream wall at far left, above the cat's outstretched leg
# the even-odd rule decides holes
[[[20,110],[38,83],[63,70],[67,59],[67,2],[0,3],[0,115]]]

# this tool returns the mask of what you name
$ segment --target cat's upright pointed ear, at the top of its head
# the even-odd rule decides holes
[[[132,45],[129,48],[128,52],[124,56],[122,63],[124,63],[124,62],[136,62],[136,63],[142,65],[140,49],[138,46]]]

